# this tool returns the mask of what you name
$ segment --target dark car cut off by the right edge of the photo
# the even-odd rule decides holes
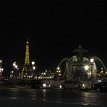
[[[98,83],[94,84],[94,89],[97,92],[107,91],[107,81],[102,81],[102,82],[98,82]]]

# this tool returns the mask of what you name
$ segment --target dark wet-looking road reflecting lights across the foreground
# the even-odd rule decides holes
[[[107,93],[0,87],[1,107],[107,107]]]

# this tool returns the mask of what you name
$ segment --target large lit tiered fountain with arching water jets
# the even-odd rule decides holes
[[[75,80],[93,84],[94,82],[97,82],[98,79],[103,80],[105,78],[98,78],[100,70],[98,70],[99,65],[97,65],[96,62],[100,63],[101,69],[103,69],[103,74],[107,73],[106,67],[99,57],[85,57],[84,53],[87,53],[88,51],[83,49],[81,45],[79,45],[73,52],[75,55],[70,58],[63,58],[58,64],[56,70],[58,80]],[[62,65],[64,65],[63,69]]]

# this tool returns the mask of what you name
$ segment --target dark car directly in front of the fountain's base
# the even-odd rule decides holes
[[[62,83],[62,88],[70,90],[87,90],[88,85],[79,81],[64,81]]]

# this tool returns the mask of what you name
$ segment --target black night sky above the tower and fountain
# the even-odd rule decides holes
[[[41,69],[53,69],[82,44],[107,64],[104,0],[49,0],[1,3],[0,57],[4,65],[24,63],[25,42]]]

